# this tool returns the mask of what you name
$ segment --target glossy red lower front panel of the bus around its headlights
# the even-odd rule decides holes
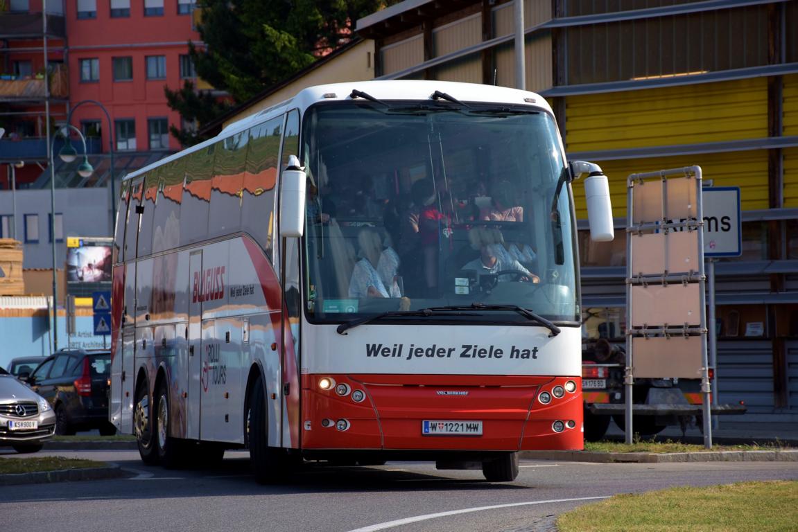
[[[319,385],[325,378],[331,383],[329,389]],[[575,383],[574,392],[556,397],[554,388],[564,388],[569,380]],[[304,375],[302,447],[582,449],[583,403],[579,388],[577,377]],[[363,394],[360,402],[356,401],[360,395],[356,392]],[[540,401],[542,392],[551,398],[547,404]],[[561,432],[555,430],[559,428],[556,421],[563,422]],[[433,422],[436,428],[471,433],[430,435],[429,424]],[[474,422],[481,422],[481,427]]]

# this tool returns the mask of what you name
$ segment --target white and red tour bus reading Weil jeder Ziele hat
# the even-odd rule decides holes
[[[109,419],[146,463],[248,448],[518,474],[583,448],[571,181],[534,93],[441,81],[304,89],[126,176]]]

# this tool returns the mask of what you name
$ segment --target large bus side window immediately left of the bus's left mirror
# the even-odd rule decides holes
[[[247,171],[241,198],[241,229],[258,242],[271,260],[275,229],[275,183],[283,117],[250,130]]]

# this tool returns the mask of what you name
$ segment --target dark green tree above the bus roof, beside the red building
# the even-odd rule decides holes
[[[197,76],[227,91],[219,103],[209,92],[164,87],[168,104],[184,121],[205,124],[231,105],[249,100],[304,69],[354,36],[354,24],[389,3],[385,0],[199,0],[198,30],[205,47],[189,43]],[[172,127],[184,146],[204,140]]]

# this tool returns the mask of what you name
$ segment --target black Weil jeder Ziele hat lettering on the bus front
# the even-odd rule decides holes
[[[510,346],[510,349],[502,349],[496,345],[477,345],[463,344],[460,347],[448,347],[433,344],[429,346],[410,344],[366,344],[365,356],[369,358],[404,358],[405,361],[413,359],[430,358],[482,358],[500,359],[510,358],[517,360],[528,360],[538,358],[538,347],[531,348],[524,346]]]

